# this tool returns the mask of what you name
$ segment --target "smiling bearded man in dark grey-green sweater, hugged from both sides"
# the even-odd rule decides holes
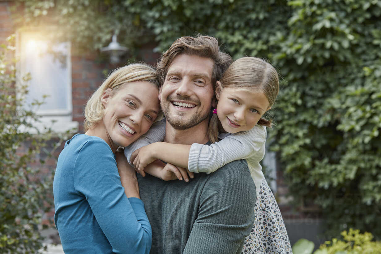
[[[231,57],[209,36],[181,37],[157,73],[166,118],[165,142],[208,143],[214,86]],[[187,106],[179,103],[186,103]],[[256,190],[247,163],[233,161],[189,182],[138,175],[152,226],[150,253],[240,253],[254,223]]]

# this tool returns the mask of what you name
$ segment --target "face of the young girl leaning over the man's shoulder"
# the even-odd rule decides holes
[[[216,89],[217,116],[223,129],[237,133],[253,128],[271,107],[262,91]]]

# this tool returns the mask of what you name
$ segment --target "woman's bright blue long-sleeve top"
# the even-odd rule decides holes
[[[141,199],[127,198],[110,146],[76,134],[59,155],[54,222],[68,253],[149,253],[152,230]]]

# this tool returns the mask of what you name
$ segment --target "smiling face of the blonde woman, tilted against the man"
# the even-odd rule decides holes
[[[158,88],[147,81],[123,84],[103,93],[103,123],[113,151],[148,131],[160,109],[158,93]]]

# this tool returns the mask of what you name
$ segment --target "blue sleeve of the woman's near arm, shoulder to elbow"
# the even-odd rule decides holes
[[[74,167],[74,187],[84,195],[116,253],[149,253],[152,230],[138,198],[128,199],[110,147],[102,140],[87,141]]]

